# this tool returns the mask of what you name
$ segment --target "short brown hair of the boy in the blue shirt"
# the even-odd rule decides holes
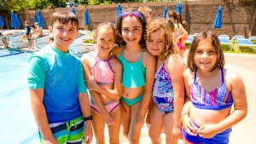
[[[70,10],[56,11],[54,14],[52,14],[52,27],[56,21],[59,21],[62,25],[67,25],[68,22],[71,21],[71,24],[76,26],[77,30],[79,30],[79,18]]]

